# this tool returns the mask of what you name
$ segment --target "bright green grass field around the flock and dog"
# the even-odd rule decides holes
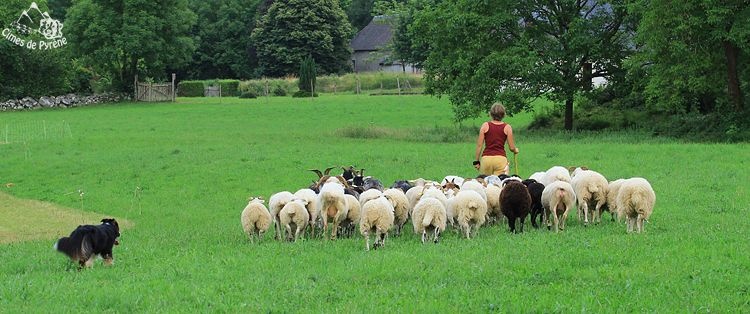
[[[69,126],[61,136],[0,144],[0,192],[133,223],[109,268],[97,262],[76,271],[52,250],[66,234],[0,244],[0,312],[750,308],[748,144],[640,132],[529,134],[530,114],[507,119],[523,176],[586,165],[610,180],[647,178],[657,200],[639,235],[608,215],[589,227],[573,215],[559,234],[533,230],[528,220],[521,235],[507,226],[483,228],[473,240],[447,232],[438,245],[422,245],[408,227],[371,252],[361,236],[298,243],[267,236],[251,245],[242,233],[249,195],[306,187],[315,179],[309,168],[355,164],[385,184],[476,175],[474,132],[483,119],[461,127],[451,119],[445,99],[354,95],[0,113],[0,134],[6,125]],[[0,215],[0,227],[27,221],[14,216]],[[25,223],[29,233],[45,230]]]

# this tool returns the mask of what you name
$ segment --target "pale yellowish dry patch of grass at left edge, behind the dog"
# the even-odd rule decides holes
[[[0,192],[0,244],[54,240],[82,224],[99,224],[110,215],[62,207],[53,203],[15,198]],[[117,218],[121,229],[134,223]]]

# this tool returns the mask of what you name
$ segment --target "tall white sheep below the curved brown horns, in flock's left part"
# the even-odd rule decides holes
[[[346,219],[348,213],[346,197],[344,197],[344,185],[341,184],[338,178],[328,178],[320,188],[318,206],[320,208],[320,216],[323,219],[323,237],[328,239],[328,221],[330,220],[333,223],[331,239],[335,240],[339,223]]]

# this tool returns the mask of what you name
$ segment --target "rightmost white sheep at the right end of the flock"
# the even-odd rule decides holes
[[[644,178],[630,178],[620,186],[617,208],[628,219],[628,232],[643,231],[643,222],[648,221],[654,211],[656,194]]]

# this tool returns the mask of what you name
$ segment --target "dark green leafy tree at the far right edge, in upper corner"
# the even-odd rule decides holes
[[[747,1],[638,1],[631,11],[642,15],[637,38],[643,46],[633,66],[646,69],[650,106],[668,112],[695,108],[703,114],[745,111]]]

